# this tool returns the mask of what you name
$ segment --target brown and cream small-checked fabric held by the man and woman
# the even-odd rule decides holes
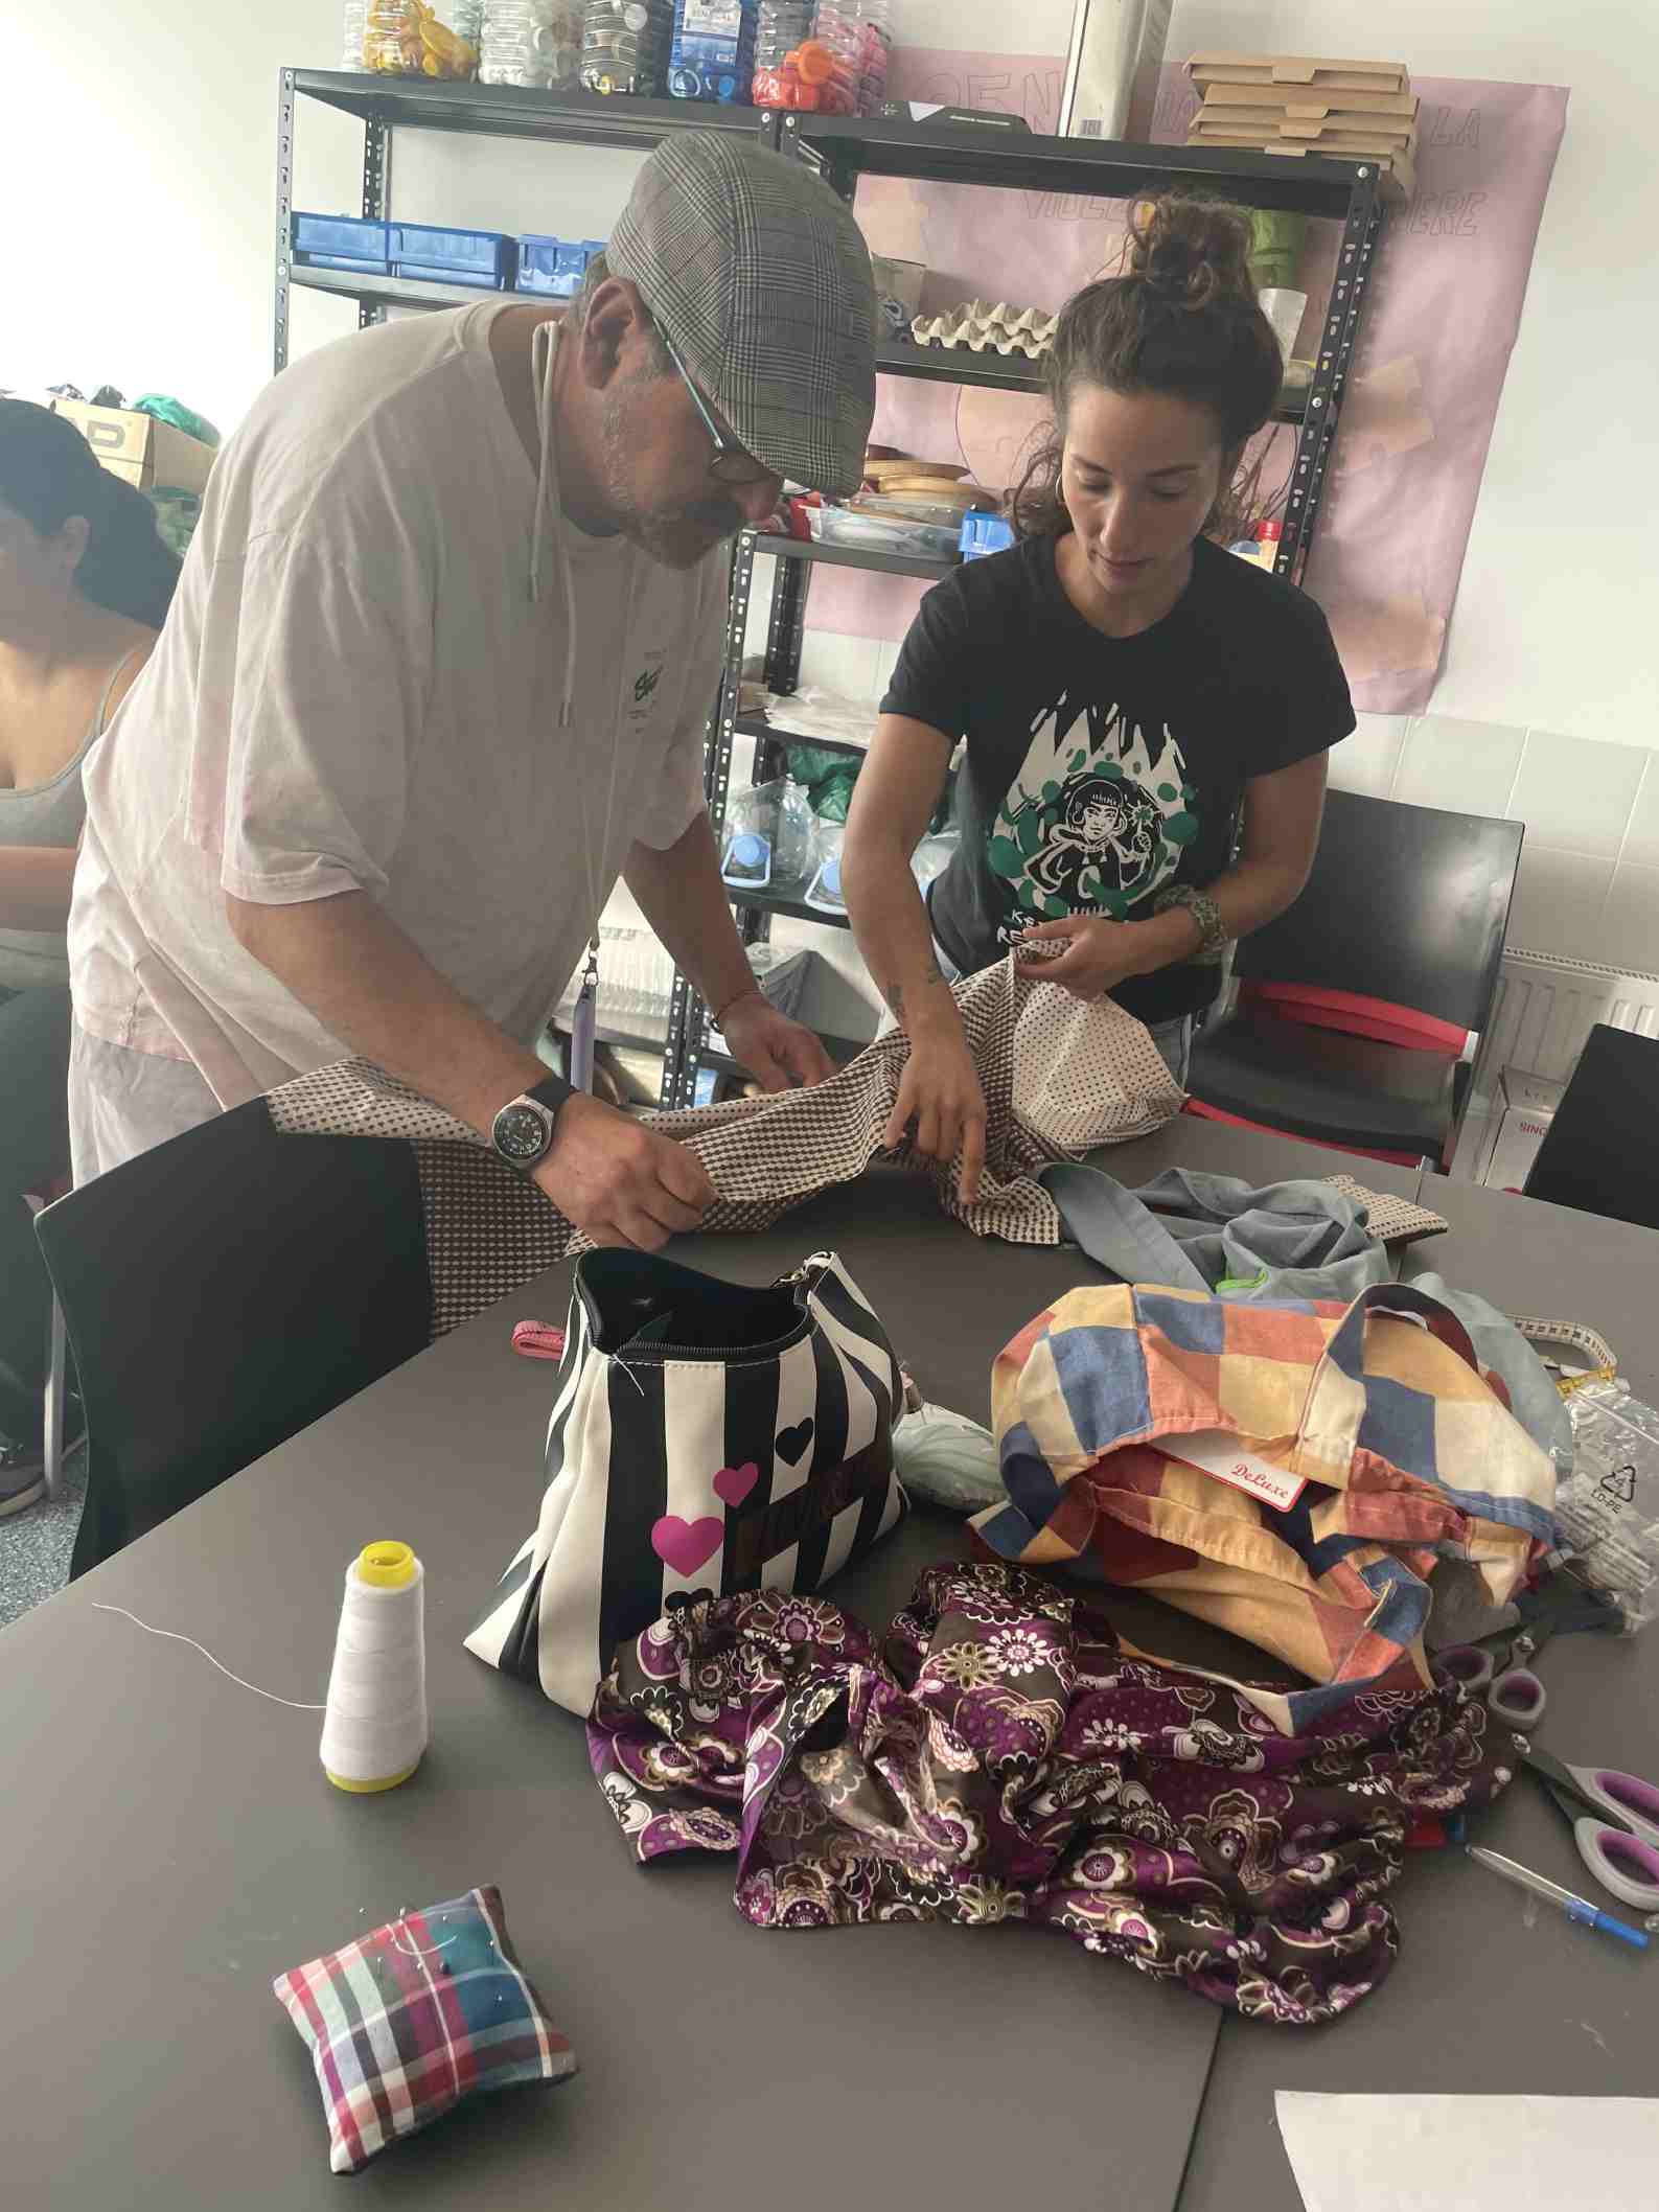
[[[1181,1108],[1146,1026],[1113,1000],[1084,1006],[1057,984],[1029,984],[1013,962],[956,984],[987,1104],[982,1197],[962,1206],[956,1170],[925,1168],[940,1206],[978,1237],[1055,1245],[1060,1212],[1031,1175],[1048,1161],[1159,1128]],[[686,1144],[717,1190],[703,1228],[770,1228],[818,1190],[849,1183],[883,1150],[909,1040],[894,1031],[814,1091],[644,1115]],[[268,1097],[288,1135],[403,1137],[414,1144],[427,1221],[434,1336],[507,1298],[586,1239],[489,1144],[442,1106],[372,1066],[341,1060]]]

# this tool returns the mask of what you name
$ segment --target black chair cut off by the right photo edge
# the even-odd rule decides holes
[[[1659,1230],[1659,1037],[1597,1022],[1526,1177],[1528,1199]]]

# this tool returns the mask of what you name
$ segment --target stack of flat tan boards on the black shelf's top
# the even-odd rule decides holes
[[[1376,161],[1389,199],[1416,190],[1418,100],[1405,62],[1194,53],[1186,69],[1203,93],[1188,146]]]

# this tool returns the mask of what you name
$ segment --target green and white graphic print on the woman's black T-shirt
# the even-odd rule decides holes
[[[989,843],[1004,942],[1071,914],[1117,920],[1170,883],[1199,836],[1197,794],[1166,723],[1062,697],[1033,728]]]

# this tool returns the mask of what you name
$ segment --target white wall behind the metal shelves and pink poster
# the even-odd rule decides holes
[[[1060,53],[1071,0],[898,0],[914,44]],[[210,29],[208,29],[210,24]],[[175,392],[234,425],[270,363],[281,62],[332,64],[334,0],[274,15],[80,0],[13,22],[0,100],[0,385]],[[1528,821],[1515,942],[1659,969],[1659,13],[1630,0],[1177,0],[1170,53],[1374,53],[1571,86],[1433,714],[1367,719],[1343,781]],[[307,104],[310,111],[312,104]],[[296,204],[354,208],[356,126],[301,117]],[[405,139],[400,212],[604,230],[630,157]],[[44,248],[27,210],[69,248]],[[161,232],[168,243],[155,243]],[[354,327],[294,296],[294,347]],[[834,648],[832,648],[834,650]],[[878,681],[872,655],[858,688]],[[827,668],[823,672],[830,672]]]

